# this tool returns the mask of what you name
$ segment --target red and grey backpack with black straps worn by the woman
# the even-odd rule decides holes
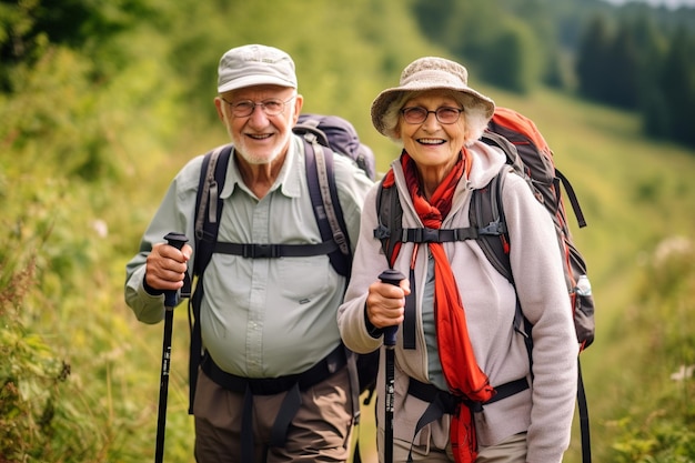
[[[382,242],[382,249],[390,266],[395,261],[394,248],[400,242],[427,241],[463,241],[476,240],[487,260],[514,285],[510,266],[510,243],[502,205],[502,188],[507,171],[511,169],[526,180],[536,199],[542,202],[552,215],[557,240],[563,252],[563,266],[567,293],[573,308],[573,316],[580,350],[588,348],[594,341],[594,300],[591,283],[586,276],[586,262],[576,249],[564,207],[562,187],[566,192],[580,228],[586,227],[584,214],[572,184],[553,161],[553,153],[535,123],[528,118],[507,108],[496,108],[482,139],[483,142],[497,147],[506,154],[506,163],[501,171],[483,189],[474,190],[471,199],[469,218],[471,227],[456,230],[436,230],[427,233],[427,229],[403,229],[402,208],[395,188],[384,188],[383,181],[376,199],[379,225],[374,236]],[[531,330],[533,326],[525,320],[517,305],[515,330],[524,335],[528,359],[531,361]],[[404,326],[406,322],[404,321]],[[406,336],[404,344],[414,348],[414,340]],[[577,359],[578,361],[578,359]],[[577,379],[577,404],[580,410],[582,451],[584,463],[591,462],[591,443],[588,434],[588,410],[582,373]]]

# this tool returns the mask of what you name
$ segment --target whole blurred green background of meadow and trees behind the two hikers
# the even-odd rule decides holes
[[[588,222],[594,461],[695,461],[693,3],[0,1],[0,462],[152,460],[162,324],[124,305],[124,265],[175,172],[228,141],[216,64],[251,42],[292,54],[305,111],[352,121],[381,172],[399,150],[370,104],[415,58],[532,118]],[[193,460],[185,312],[170,462]]]

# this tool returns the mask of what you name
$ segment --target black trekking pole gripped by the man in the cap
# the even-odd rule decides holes
[[[189,241],[181,233],[169,233],[164,236],[167,243],[177,249],[183,248]],[[157,450],[154,462],[162,463],[164,459],[164,433],[167,427],[167,399],[169,394],[169,369],[171,368],[171,333],[173,332],[173,309],[177,305],[177,291],[164,291],[164,340],[162,343],[162,374],[159,384],[159,411],[157,416]]]

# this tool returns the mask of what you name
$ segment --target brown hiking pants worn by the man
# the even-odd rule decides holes
[[[285,445],[268,447],[285,394],[253,397],[255,462],[345,462],[353,419],[348,369],[303,391]],[[244,394],[223,389],[199,371],[193,407],[198,463],[241,463],[243,401]]]

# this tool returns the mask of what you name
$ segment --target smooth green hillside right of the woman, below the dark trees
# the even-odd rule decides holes
[[[653,310],[655,306],[643,300],[644,293],[662,299],[662,288],[648,285],[646,278],[659,244],[675,236],[692,238],[695,232],[695,187],[689,180],[695,173],[695,153],[645,140],[638,134],[639,122],[631,114],[563,95],[540,92],[528,101],[508,95],[496,101],[518,108],[536,121],[554,149],[557,167],[572,180],[582,201],[588,227],[575,227],[574,238],[590,264],[597,311],[596,341],[582,354],[595,461],[617,461],[608,453],[622,432],[615,423],[631,416],[626,412],[631,407],[633,412],[649,407],[649,402],[656,401],[653,389],[669,384],[666,375],[645,378],[654,371],[652,362],[675,370],[675,364],[684,361],[643,355],[655,335],[648,326],[665,325],[673,315],[672,311]],[[692,299],[682,292],[676,301],[691,306]],[[672,306],[676,301],[662,303]],[[635,326],[639,316],[635,311],[642,310],[653,311],[642,315],[646,325]],[[687,326],[682,325],[686,333]],[[642,403],[635,406],[626,400]],[[571,463],[581,461],[577,437],[575,433],[566,457]]]

